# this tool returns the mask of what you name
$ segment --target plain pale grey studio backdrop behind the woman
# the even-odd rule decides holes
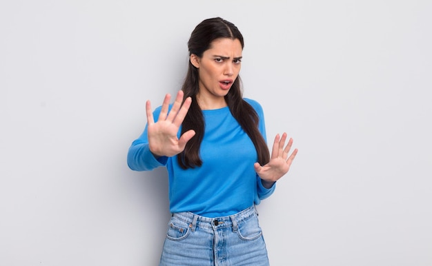
[[[271,265],[432,265],[431,1],[1,1],[0,265],[157,265],[164,168],[130,143],[197,23],[300,151],[258,206]],[[235,152],[235,151],[230,151]],[[224,178],[224,176],[221,176]]]

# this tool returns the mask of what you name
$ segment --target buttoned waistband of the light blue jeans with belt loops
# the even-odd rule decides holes
[[[173,217],[178,218],[181,221],[189,223],[190,229],[194,232],[196,227],[206,227],[219,229],[224,227],[233,227],[233,231],[237,231],[237,225],[247,218],[258,214],[255,205],[244,209],[242,212],[233,214],[230,216],[222,216],[209,218],[193,214],[192,212],[177,212],[173,214]]]

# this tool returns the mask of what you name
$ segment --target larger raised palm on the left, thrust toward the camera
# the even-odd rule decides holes
[[[166,94],[164,103],[162,103],[159,119],[156,123],[153,118],[150,101],[146,102],[148,145],[150,147],[150,152],[152,152],[155,157],[170,157],[179,154],[184,150],[186,143],[195,136],[194,130],[188,130],[180,136],[180,139],[177,138],[177,132],[179,132],[179,127],[188,113],[192,99],[188,97],[183,105],[181,105],[183,92],[180,90],[177,92],[173,108],[171,108],[168,113],[170,99],[170,94]]]

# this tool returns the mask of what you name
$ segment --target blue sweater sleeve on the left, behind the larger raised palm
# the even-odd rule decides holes
[[[156,108],[153,112],[153,117],[159,117],[161,108]],[[127,163],[131,170],[135,171],[148,171],[153,170],[156,167],[166,165],[168,157],[161,156],[155,158],[150,152],[147,139],[147,125],[144,132],[139,136],[138,139],[132,142],[128,150]]]

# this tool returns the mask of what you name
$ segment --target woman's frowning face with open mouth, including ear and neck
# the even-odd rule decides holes
[[[204,109],[226,106],[224,96],[239,75],[242,44],[238,39],[220,38],[210,43],[202,57],[190,55],[190,62],[198,68],[199,92],[197,101]]]

